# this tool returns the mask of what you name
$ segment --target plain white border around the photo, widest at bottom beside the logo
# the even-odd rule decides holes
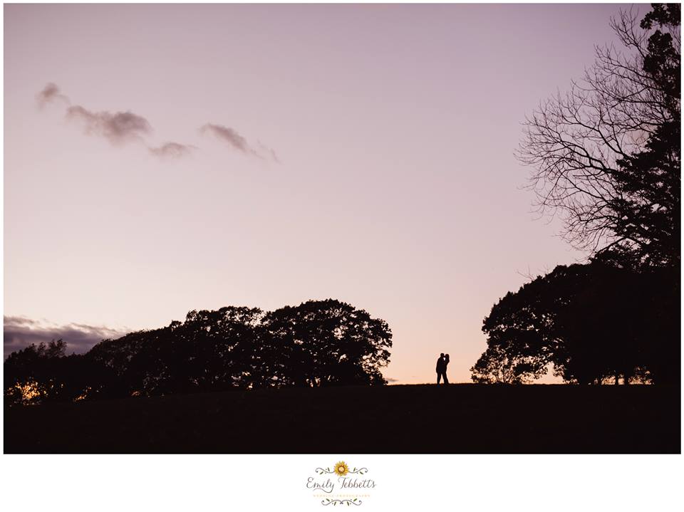
[[[3,455],[0,496],[12,511],[320,511],[306,477],[338,460],[368,466],[377,481],[361,510],[643,512],[683,504],[681,455]]]

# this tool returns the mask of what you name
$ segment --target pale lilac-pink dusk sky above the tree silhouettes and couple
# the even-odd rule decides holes
[[[514,150],[620,7],[6,4],[6,355],[337,298],[390,382],[470,381],[492,305],[586,256]]]

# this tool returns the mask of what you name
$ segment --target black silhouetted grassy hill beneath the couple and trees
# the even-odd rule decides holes
[[[405,385],[5,409],[6,453],[679,453],[679,390]]]

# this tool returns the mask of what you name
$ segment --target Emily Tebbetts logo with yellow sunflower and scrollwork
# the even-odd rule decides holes
[[[368,478],[368,468],[350,467],[345,461],[314,472],[316,475],[306,480],[306,489],[324,506],[361,506],[377,486]]]

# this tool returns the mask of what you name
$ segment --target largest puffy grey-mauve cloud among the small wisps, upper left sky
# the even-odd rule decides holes
[[[91,112],[81,105],[69,107],[66,117],[81,122],[88,135],[100,135],[114,145],[140,140],[142,135],[152,132],[145,117],[128,112]]]

